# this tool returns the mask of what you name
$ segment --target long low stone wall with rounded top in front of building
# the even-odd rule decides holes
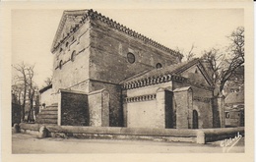
[[[20,124],[21,132],[37,132],[45,129],[47,136],[79,137],[79,138],[104,138],[104,139],[146,139],[159,141],[186,141],[206,143],[214,140],[234,137],[239,132],[244,135],[244,128],[224,129],[149,129],[149,128],[121,128],[121,127],[80,127],[56,126],[39,124]],[[43,135],[40,135],[43,136]]]

